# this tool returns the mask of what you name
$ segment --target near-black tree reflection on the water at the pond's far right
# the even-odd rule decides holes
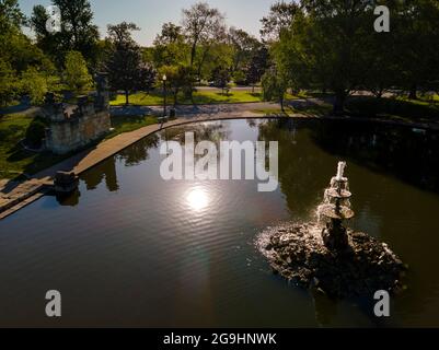
[[[388,172],[412,185],[439,190],[439,133],[370,122],[320,122],[313,133],[325,151]]]

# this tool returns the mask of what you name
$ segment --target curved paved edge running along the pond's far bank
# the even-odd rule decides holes
[[[389,125],[400,125],[413,128],[421,129],[434,129],[439,130],[438,125],[434,124],[413,124],[413,122],[402,122],[385,119],[362,119],[353,117],[317,117],[309,115],[294,114],[288,116],[289,118],[317,118],[317,119],[333,119],[333,120],[358,120],[368,122],[383,122]],[[117,154],[118,152],[125,150],[131,144],[140,141],[141,139],[175,126],[193,124],[193,122],[204,122],[204,121],[215,121],[215,120],[233,120],[233,119],[277,119],[285,118],[285,115],[264,115],[253,112],[244,112],[238,114],[223,113],[223,114],[203,114],[198,116],[182,116],[175,120],[167,121],[163,125],[155,124],[139,128],[134,131],[120,133],[112,139],[105,140],[97,145],[90,148],[85,151],[79,152],[78,154],[58,163],[54,166],[46,168],[24,183],[13,183],[9,182],[7,185],[0,183],[0,220],[13,214],[18,210],[26,207],[27,205],[39,199],[42,196],[46,195],[54,185],[54,177],[58,171],[73,171],[74,174],[81,175],[88,170],[96,166],[106,159]],[[8,187],[11,187],[8,189]]]

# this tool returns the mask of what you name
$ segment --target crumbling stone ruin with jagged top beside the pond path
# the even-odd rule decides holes
[[[105,73],[96,75],[96,94],[79,96],[76,105],[56,103],[55,95],[46,96],[44,114],[49,121],[45,149],[66,154],[84,148],[111,129],[109,93]]]

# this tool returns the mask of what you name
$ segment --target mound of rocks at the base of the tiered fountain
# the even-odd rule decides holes
[[[313,288],[331,298],[373,295],[379,290],[398,292],[406,266],[388,245],[348,230],[343,250],[328,249],[319,224],[268,228],[257,240],[273,271],[288,281]]]

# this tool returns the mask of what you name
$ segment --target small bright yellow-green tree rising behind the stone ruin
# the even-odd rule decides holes
[[[65,66],[65,80],[70,90],[76,93],[81,93],[91,89],[93,80],[86,69],[86,62],[81,52],[68,52]]]

